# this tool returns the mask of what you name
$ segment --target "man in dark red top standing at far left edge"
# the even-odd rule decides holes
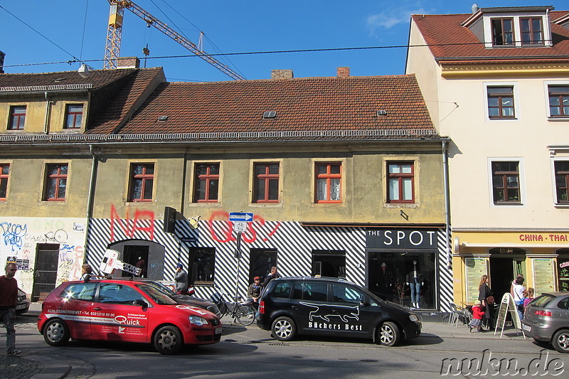
[[[14,278],[17,270],[16,263],[6,265],[6,274],[0,277],[0,320],[6,326],[6,352],[16,356],[21,350],[16,349],[16,304],[18,304],[18,281]]]

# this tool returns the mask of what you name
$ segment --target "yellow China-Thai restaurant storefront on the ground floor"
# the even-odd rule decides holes
[[[569,290],[568,232],[457,232],[453,233],[454,300],[473,304],[482,275],[489,275],[494,297],[510,292],[522,274],[536,296]],[[565,271],[563,271],[565,269]]]

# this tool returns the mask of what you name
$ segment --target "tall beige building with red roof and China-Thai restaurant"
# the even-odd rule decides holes
[[[525,7],[412,17],[406,72],[452,139],[456,304],[478,299],[484,274],[498,299],[519,273],[536,295],[569,290],[569,44],[555,37],[569,35],[568,14]]]

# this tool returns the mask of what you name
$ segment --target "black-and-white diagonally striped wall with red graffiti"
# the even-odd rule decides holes
[[[107,247],[123,240],[151,240],[164,246],[164,280],[174,280],[176,263],[188,262],[188,247],[215,247],[215,282],[223,292],[235,293],[236,233],[226,220],[201,221],[193,229],[186,220],[176,222],[175,233],[164,233],[163,220],[92,219],[87,236],[87,262],[98,267]],[[126,222],[126,223],[125,223]],[[134,225],[136,223],[136,225]],[[181,242],[190,241],[190,242]],[[449,238],[437,229],[438,284],[440,311],[450,311],[452,302],[452,269],[448,265]],[[362,286],[366,283],[366,236],[364,228],[310,227],[294,221],[262,221],[251,223],[241,242],[238,291],[245,295],[248,287],[249,251],[252,248],[276,249],[282,276],[309,276],[312,272],[312,250],[345,250],[346,279]],[[208,298],[216,289],[197,287],[198,297]]]

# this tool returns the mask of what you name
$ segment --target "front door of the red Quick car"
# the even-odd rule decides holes
[[[109,341],[148,341],[149,308],[134,301],[148,300],[128,284],[102,283],[91,320],[95,339]]]

